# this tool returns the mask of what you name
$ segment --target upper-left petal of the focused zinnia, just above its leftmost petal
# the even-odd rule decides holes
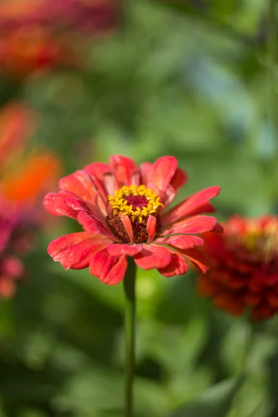
[[[89,203],[94,202],[97,192],[90,175],[82,170],[78,170],[60,179],[58,186],[61,190],[72,191],[72,193],[75,193],[85,202]]]

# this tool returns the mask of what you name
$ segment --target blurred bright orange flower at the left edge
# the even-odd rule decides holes
[[[32,149],[24,156],[26,142],[38,123],[35,112],[25,104],[3,107],[0,122],[0,193],[11,202],[33,204],[55,183],[60,159],[39,149]]]

